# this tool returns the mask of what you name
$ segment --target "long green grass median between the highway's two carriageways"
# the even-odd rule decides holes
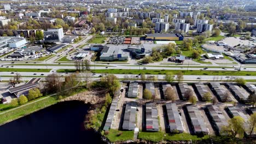
[[[174,75],[182,72],[184,75],[230,75],[230,76],[256,76],[256,71],[228,71],[228,70],[149,70],[149,69],[96,69],[91,73],[98,74],[149,74],[149,75],[165,75],[172,72]],[[57,73],[74,73],[75,69],[59,69]]]

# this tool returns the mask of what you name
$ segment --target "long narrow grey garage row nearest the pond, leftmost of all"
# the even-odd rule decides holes
[[[106,123],[104,125],[103,130],[108,131],[112,127],[112,122],[114,119],[115,110],[117,109],[117,105],[118,105],[118,97],[112,100],[112,103],[110,105],[110,109],[108,112],[108,117],[106,119]]]

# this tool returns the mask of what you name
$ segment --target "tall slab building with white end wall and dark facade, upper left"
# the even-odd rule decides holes
[[[48,29],[44,32],[44,40],[45,41],[62,41],[62,38],[64,37],[63,34],[63,28],[54,28],[54,29]]]

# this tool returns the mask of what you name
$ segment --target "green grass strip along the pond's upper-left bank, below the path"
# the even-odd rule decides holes
[[[58,100],[56,100],[54,97],[49,97],[49,98],[40,100],[36,103],[20,107],[19,109],[15,109],[13,111],[3,113],[2,115],[0,115],[0,125],[5,122],[11,121],[13,119],[17,119],[22,116],[29,115],[30,113],[32,113],[34,111],[37,111],[37,110],[43,109],[44,107],[56,104],[57,102],[58,102]]]

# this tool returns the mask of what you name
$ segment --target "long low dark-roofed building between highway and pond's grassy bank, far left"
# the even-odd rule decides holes
[[[20,97],[20,95],[22,94],[27,95],[30,89],[35,88],[39,85],[40,80],[41,78],[33,78],[24,85],[9,88],[8,91],[11,94],[15,94],[16,97]]]

